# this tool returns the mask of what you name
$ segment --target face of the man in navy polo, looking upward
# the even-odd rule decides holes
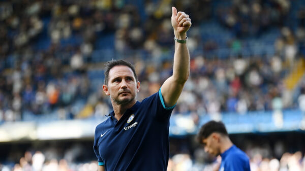
[[[130,67],[114,66],[110,69],[108,78],[108,85],[103,85],[103,89],[107,95],[110,95],[111,100],[118,105],[128,104],[135,100],[140,82],[136,81]]]

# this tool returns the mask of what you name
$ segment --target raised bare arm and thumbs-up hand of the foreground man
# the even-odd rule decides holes
[[[191,27],[191,19],[184,12],[178,12],[172,7],[171,23],[175,37],[179,40],[187,38],[187,31]],[[189,78],[190,74],[190,53],[187,44],[175,42],[175,54],[173,63],[173,75],[162,85],[161,93],[166,107],[176,104],[179,95]]]

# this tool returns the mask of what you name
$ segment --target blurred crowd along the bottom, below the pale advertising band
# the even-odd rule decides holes
[[[250,156],[250,166],[253,171],[303,171],[305,170],[305,156],[301,152],[283,153],[277,150],[279,158],[271,155],[267,147],[251,147],[246,150]],[[283,153],[283,154],[282,154]],[[10,154],[11,160],[18,160],[16,164],[0,164],[0,171],[97,171],[96,160],[88,161],[85,148],[73,145],[64,153],[58,148],[45,148],[43,151],[26,151],[21,158]],[[86,158],[87,157],[87,158]],[[86,159],[85,159],[86,158]],[[203,162],[205,161],[205,162]],[[221,158],[210,157],[202,148],[195,150],[192,157],[188,153],[177,153],[170,157],[168,171],[207,171],[218,170]]]

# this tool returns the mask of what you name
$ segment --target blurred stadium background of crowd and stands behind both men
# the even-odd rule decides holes
[[[104,63],[126,59],[138,100],[172,74],[171,7],[192,19],[191,75],[170,120],[169,171],[212,170],[195,141],[222,120],[253,171],[305,170],[305,1],[0,1],[0,170],[96,171],[112,110]]]

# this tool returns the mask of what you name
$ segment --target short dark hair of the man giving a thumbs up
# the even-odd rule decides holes
[[[124,66],[128,66],[130,67],[130,69],[132,70],[135,78],[136,78],[136,81],[138,82],[138,76],[136,74],[136,70],[135,70],[135,67],[134,65],[132,65],[130,62],[126,61],[126,60],[123,60],[123,59],[119,59],[119,60],[110,60],[108,62],[105,63],[105,79],[104,79],[104,83],[106,85],[108,85],[108,79],[109,79],[109,71],[114,67],[114,66],[118,66],[118,65],[124,65]]]

